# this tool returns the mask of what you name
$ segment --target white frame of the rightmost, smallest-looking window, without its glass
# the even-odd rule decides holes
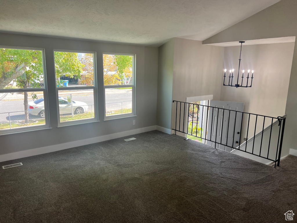
[[[102,64],[103,64],[103,54],[132,56],[132,84],[104,85],[104,76],[102,73],[103,93],[104,93],[104,121],[120,119],[120,118],[127,118],[127,117],[135,117],[136,116],[136,106],[135,106],[135,101],[136,101],[136,54],[121,54],[121,53],[105,53],[105,52],[103,52],[102,53]],[[104,71],[102,70],[102,72],[104,72]],[[132,87],[132,113],[106,116],[105,89],[107,89],[107,88],[126,88],[126,87]]]

